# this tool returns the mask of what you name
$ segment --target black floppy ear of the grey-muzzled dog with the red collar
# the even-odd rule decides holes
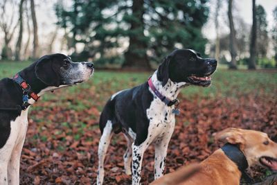
[[[49,56],[39,58],[35,65],[35,75],[46,85],[59,87],[60,76],[54,62]]]

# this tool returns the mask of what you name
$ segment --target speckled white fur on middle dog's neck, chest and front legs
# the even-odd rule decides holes
[[[177,98],[181,87],[186,85],[186,82],[172,82],[170,79],[163,87],[161,82],[157,79],[157,71],[152,76],[152,82],[156,89],[166,96],[174,100]],[[150,143],[154,143],[155,148],[155,174],[154,179],[163,176],[163,170],[166,162],[166,154],[168,150],[168,143],[175,128],[175,114],[172,114],[172,110],[175,105],[171,107],[165,105],[150,89],[149,91],[154,95],[154,100],[150,104],[149,109],[146,110],[150,124],[148,127],[148,137],[140,146],[132,145],[133,149],[133,161],[139,161],[139,165],[135,165],[133,168],[132,184],[139,184],[141,181],[141,166],[143,160],[143,153],[148,148]],[[135,152],[136,151],[136,152]],[[136,173],[139,171],[139,173]]]

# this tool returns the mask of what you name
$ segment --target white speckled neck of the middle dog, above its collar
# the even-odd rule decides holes
[[[168,82],[165,86],[162,85],[162,82],[157,78],[157,71],[155,71],[151,77],[154,87],[163,95],[169,98],[170,100],[174,100],[177,98],[179,92],[182,87],[186,86],[186,82],[172,82],[168,79]],[[151,93],[154,94],[152,89],[150,89]]]

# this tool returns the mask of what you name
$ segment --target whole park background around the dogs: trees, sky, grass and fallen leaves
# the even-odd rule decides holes
[[[212,134],[226,127],[260,130],[277,142],[276,0],[0,0],[0,79],[49,53],[98,68],[87,82],[45,94],[30,108],[20,183],[96,184],[103,106],[182,48],[219,65],[211,87],[179,94],[165,173],[206,159],[219,146]],[[126,146],[122,134],[112,139],[104,184],[132,184],[123,170]],[[153,171],[150,146],[143,185]],[[251,177],[256,185],[277,181],[260,167]]]

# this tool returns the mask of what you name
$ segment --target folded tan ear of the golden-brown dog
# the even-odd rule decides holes
[[[245,139],[240,129],[238,128],[226,128],[220,132],[214,133],[215,141],[221,141],[224,143],[238,144],[240,149],[244,148]]]

